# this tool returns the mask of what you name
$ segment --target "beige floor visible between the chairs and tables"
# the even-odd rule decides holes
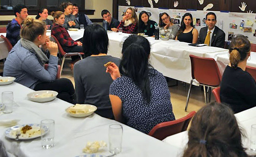
[[[73,84],[74,77],[73,72],[69,68],[69,64],[71,59],[67,58],[64,64],[64,68],[62,71],[61,78],[69,78]],[[3,62],[0,62],[0,72],[3,72]],[[169,81],[170,85],[176,84],[176,80]],[[173,107],[173,112],[176,119],[186,116],[191,111],[198,111],[202,106],[205,105],[204,103],[204,92],[201,90],[201,87],[192,86],[188,110],[185,112],[185,105],[188,95],[188,83],[182,83],[178,81],[178,86],[170,86],[169,90],[171,92],[171,102]],[[211,94],[211,101],[215,101],[213,94]]]

